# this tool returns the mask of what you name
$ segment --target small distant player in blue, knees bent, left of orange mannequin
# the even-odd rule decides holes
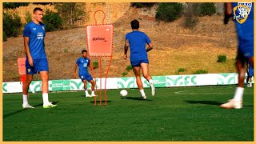
[[[74,78],[77,77],[77,68],[79,68],[78,74],[84,84],[86,97],[94,97],[96,96],[94,94],[95,82],[88,72],[88,67],[90,67],[90,59],[87,58],[87,50],[82,50],[82,57],[78,58],[77,62],[74,64]],[[87,90],[87,81],[91,84],[91,95],[88,93]]]

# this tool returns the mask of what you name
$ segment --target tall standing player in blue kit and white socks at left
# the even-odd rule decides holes
[[[46,26],[42,23],[43,11],[36,7],[33,11],[33,21],[26,24],[23,37],[26,50],[26,81],[22,86],[23,108],[34,108],[28,102],[28,90],[34,74],[41,74],[43,108],[51,108],[56,105],[48,99],[48,61],[46,58],[44,38]]]

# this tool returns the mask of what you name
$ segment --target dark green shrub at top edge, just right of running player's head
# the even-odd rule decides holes
[[[177,2],[160,3],[155,18],[164,22],[173,22],[182,16],[182,4]]]

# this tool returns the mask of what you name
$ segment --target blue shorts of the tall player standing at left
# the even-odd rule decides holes
[[[46,58],[33,59],[33,64],[34,66],[30,66],[29,60],[26,58],[26,74],[39,74],[40,71],[49,71]]]

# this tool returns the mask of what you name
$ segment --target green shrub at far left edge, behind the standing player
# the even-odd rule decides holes
[[[22,32],[22,22],[18,14],[3,13],[3,31],[7,38],[17,37]]]

